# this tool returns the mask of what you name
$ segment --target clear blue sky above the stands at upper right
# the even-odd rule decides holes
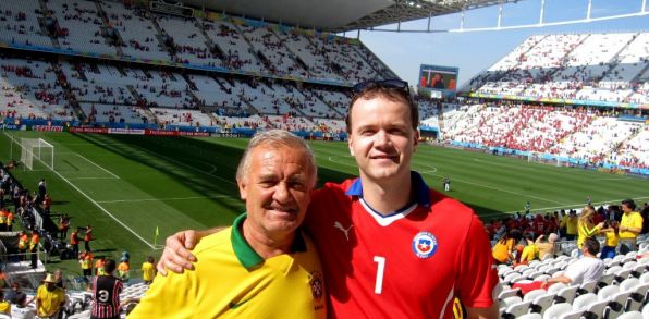
[[[649,0],[646,1],[649,11]],[[502,26],[537,24],[541,1],[522,0],[503,5]],[[642,0],[592,0],[591,17],[602,17],[639,12]],[[544,21],[562,22],[586,17],[588,0],[546,0]],[[465,12],[464,28],[495,27],[499,7]],[[433,30],[460,28],[461,14],[433,17]],[[401,29],[426,30],[428,20],[401,24]],[[396,29],[396,25],[381,28]],[[649,32],[649,15],[610,21],[578,23],[559,26],[501,29],[487,32],[395,33],[360,32],[360,40],[401,78],[416,85],[419,65],[433,64],[460,68],[461,85],[487,70],[527,37],[542,34],[566,33],[624,33]],[[346,34],[356,37],[357,33]]]

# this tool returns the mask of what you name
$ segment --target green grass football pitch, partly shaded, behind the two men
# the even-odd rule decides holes
[[[158,258],[164,237],[183,229],[230,224],[244,210],[234,174],[247,139],[74,135],[68,133],[0,133],[0,160],[20,158],[10,137],[41,137],[54,145],[56,172],[42,164],[12,173],[30,189],[45,177],[54,213],[66,212],[72,226],[91,224],[97,255],[118,258],[122,250],[138,269],[146,256]],[[344,143],[314,142],[320,184],[355,176],[357,169]],[[525,160],[420,145],[413,169],[441,189],[452,180],[450,196],[472,206],[483,219],[523,210],[649,200],[649,180],[580,169],[528,163]],[[81,191],[81,192],[79,192]],[[83,194],[82,194],[83,192]],[[156,228],[160,236],[155,243]],[[82,249],[83,250],[83,249]],[[81,272],[75,261],[50,268]]]

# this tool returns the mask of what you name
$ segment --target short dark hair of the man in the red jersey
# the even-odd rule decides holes
[[[356,85],[356,87],[363,86],[363,88],[354,94],[354,97],[352,97],[352,102],[350,102],[347,115],[345,116],[345,124],[347,124],[347,133],[352,133],[352,107],[354,107],[354,103],[362,98],[369,100],[378,96],[384,97],[391,101],[406,103],[411,111],[411,121],[413,122],[412,126],[414,130],[417,130],[417,126],[419,126],[419,107],[417,106],[417,102],[415,102],[413,96],[411,95],[407,82],[403,82],[403,88],[392,87],[382,84],[385,82],[389,81],[374,81]]]

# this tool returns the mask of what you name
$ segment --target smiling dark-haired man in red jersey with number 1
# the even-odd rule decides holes
[[[407,83],[372,81],[355,91],[346,122],[360,176],[316,191],[305,220],[326,271],[330,315],[453,318],[458,298],[469,318],[497,318],[498,274],[482,223],[411,171],[419,120]],[[168,238],[161,263],[192,269],[180,241],[192,246],[195,236]]]

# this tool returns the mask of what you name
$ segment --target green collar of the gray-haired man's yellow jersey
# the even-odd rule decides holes
[[[252,270],[259,263],[264,262],[264,258],[261,258],[261,256],[259,256],[259,254],[257,254],[257,251],[250,247],[250,244],[248,244],[241,232],[241,226],[244,220],[246,220],[247,216],[248,214],[244,212],[234,220],[230,241],[232,242],[232,249],[234,250],[234,255],[236,255],[236,259],[238,259],[241,265],[247,270]],[[294,253],[306,251],[306,243],[302,237],[301,229],[295,231],[295,240],[293,240],[291,250]]]

